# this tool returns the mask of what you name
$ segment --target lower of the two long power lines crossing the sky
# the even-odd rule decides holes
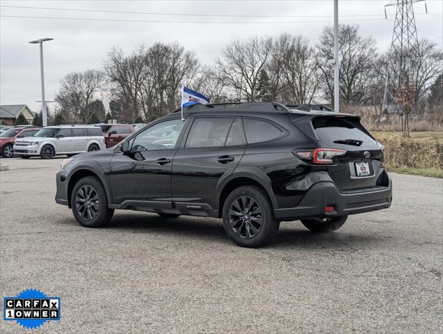
[[[293,23],[329,23],[331,21],[164,21],[160,19],[95,19],[87,17],[45,17],[45,16],[22,16],[0,15],[0,17],[16,17],[23,19],[68,19],[77,21],[108,21],[108,22],[151,22],[151,23],[191,23],[191,24],[293,24]],[[362,21],[385,21],[385,17],[379,19],[347,19],[341,22]]]

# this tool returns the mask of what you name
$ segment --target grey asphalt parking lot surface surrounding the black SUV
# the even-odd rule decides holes
[[[442,333],[442,180],[392,174],[390,209],[246,249],[214,218],[82,228],[54,202],[61,160],[1,159],[0,296],[61,296],[42,333]]]

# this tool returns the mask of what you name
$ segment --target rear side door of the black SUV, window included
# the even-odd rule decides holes
[[[195,118],[186,137],[172,164],[172,201],[183,209],[214,209],[218,180],[245,152],[241,119]]]

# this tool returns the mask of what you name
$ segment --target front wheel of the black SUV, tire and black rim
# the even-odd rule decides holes
[[[83,177],[75,184],[71,206],[76,221],[86,228],[101,228],[111,221],[114,214],[113,209],[108,209],[102,183],[92,176]]]

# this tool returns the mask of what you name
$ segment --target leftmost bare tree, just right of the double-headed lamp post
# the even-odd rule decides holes
[[[61,80],[55,100],[67,122],[88,122],[90,104],[102,90],[104,76],[97,70],[72,72]]]

